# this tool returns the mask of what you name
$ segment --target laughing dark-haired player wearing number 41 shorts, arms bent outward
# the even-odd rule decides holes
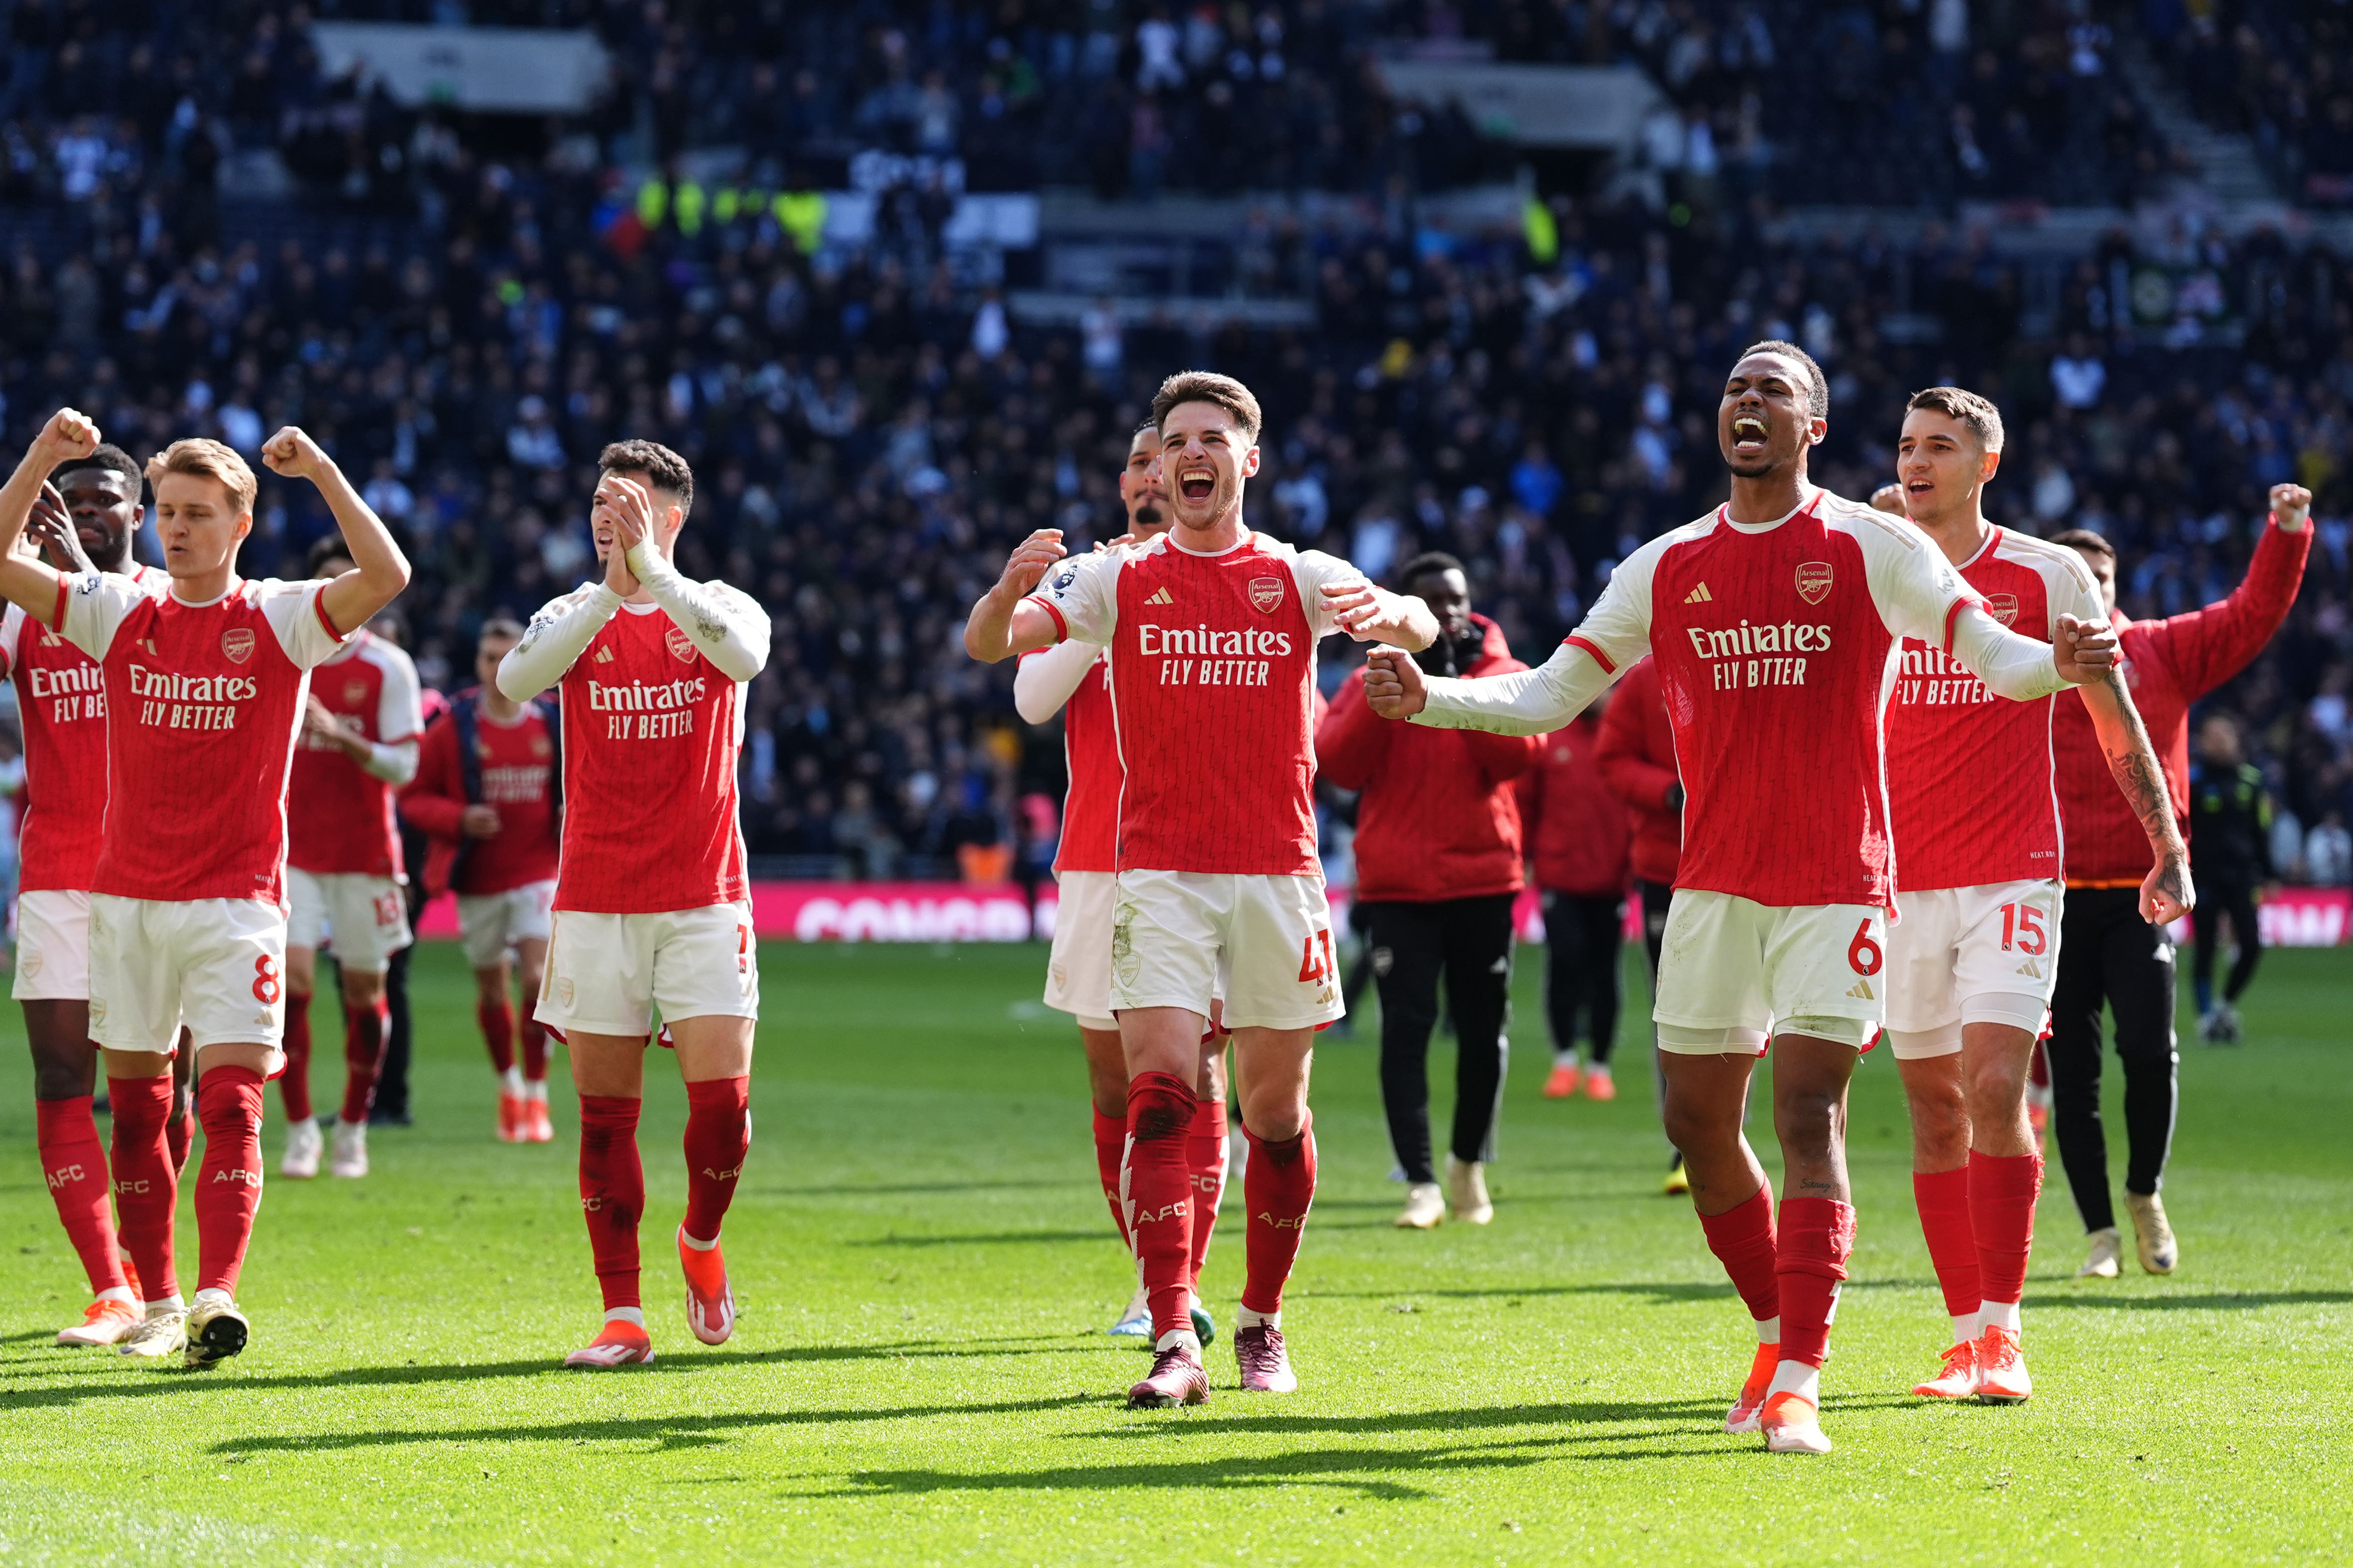
[[[1282,1284],[1315,1197],[1308,1058],[1315,1030],[1341,1016],[1311,799],[1315,642],[1346,630],[1426,649],[1438,637],[1421,599],[1242,524],[1242,487],[1259,470],[1249,388],[1207,371],[1169,376],[1153,423],[1174,527],[1059,567],[1061,534],[1040,529],[965,623],[965,651],[988,663],[1064,639],[1111,649],[1127,769],[1111,1011],[1129,1074],[1127,1220],[1155,1352],[1132,1406],[1209,1396],[1188,1316],[1186,1135],[1221,964],[1249,1145],[1233,1354],[1245,1389],[1299,1387],[1282,1347]]]

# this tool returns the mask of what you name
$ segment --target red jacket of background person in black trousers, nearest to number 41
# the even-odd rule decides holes
[[[1468,675],[1525,670],[1485,616]],[[1315,726],[1315,766],[1355,806],[1355,896],[1438,903],[1520,891],[1520,806],[1511,780],[1537,764],[1534,736],[1421,729],[1379,717],[1355,670]]]

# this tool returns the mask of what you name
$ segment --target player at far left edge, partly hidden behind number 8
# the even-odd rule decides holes
[[[127,451],[99,447],[42,487],[28,538],[61,571],[106,571],[162,592],[167,578],[132,559],[139,484],[139,463]],[[99,1053],[89,1044],[89,877],[106,825],[106,696],[89,656],[14,604],[0,618],[0,672],[16,682],[24,726],[14,992],[33,1046],[40,1168],[96,1298],[56,1342],[113,1345],[141,1324],[141,1302],[136,1269],[122,1267],[92,1117]],[[167,1084],[160,1100],[118,1100],[115,1135],[153,1133],[151,1124],[165,1117],[176,1131],[174,1098]]]

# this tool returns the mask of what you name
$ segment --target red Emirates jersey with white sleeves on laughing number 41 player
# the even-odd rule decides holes
[[[1064,637],[1111,649],[1118,870],[1320,875],[1315,642],[1334,630],[1320,588],[1360,578],[1264,534],[1219,555],[1162,534],[1054,569],[1038,604]]]

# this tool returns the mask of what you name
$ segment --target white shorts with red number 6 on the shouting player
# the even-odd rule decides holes
[[[1885,1016],[1887,912],[1866,903],[1777,907],[1675,889],[1659,950],[1659,1048],[1755,1051],[1774,1032],[1868,1051]]]

